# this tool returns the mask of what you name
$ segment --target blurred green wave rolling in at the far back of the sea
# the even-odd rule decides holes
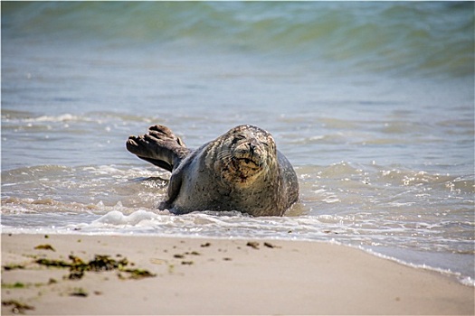
[[[168,45],[422,76],[473,76],[474,4],[3,3],[2,29],[32,42]],[[209,51],[209,50],[207,50]],[[321,61],[324,62],[321,62]]]

